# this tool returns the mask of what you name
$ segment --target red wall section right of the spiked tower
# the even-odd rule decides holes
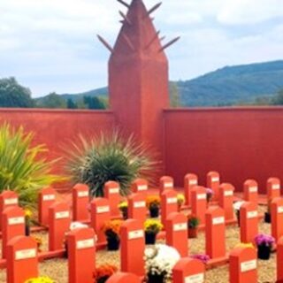
[[[164,111],[166,173],[182,185],[187,172],[205,184],[205,174],[240,190],[254,178],[261,192],[269,177],[283,181],[283,108],[228,108]]]

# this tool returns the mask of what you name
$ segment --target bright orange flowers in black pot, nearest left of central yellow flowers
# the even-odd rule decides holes
[[[108,250],[118,250],[120,244],[119,232],[122,220],[115,219],[105,222],[103,231],[107,240]]]

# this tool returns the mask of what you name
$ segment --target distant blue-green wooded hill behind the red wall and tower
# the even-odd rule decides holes
[[[218,106],[252,103],[256,98],[274,96],[283,88],[283,60],[250,65],[226,66],[193,80],[172,81],[184,106]],[[74,101],[83,96],[107,96],[108,88],[80,94],[64,94]],[[39,98],[41,99],[41,98]]]

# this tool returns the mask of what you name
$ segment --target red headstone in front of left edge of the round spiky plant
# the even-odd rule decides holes
[[[73,187],[73,221],[86,221],[88,214],[89,187],[85,184],[76,184]]]

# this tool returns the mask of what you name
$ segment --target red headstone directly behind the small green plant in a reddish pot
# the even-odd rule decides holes
[[[200,219],[201,224],[205,221],[205,211],[207,209],[206,189],[205,187],[196,186],[191,192],[192,213]]]

